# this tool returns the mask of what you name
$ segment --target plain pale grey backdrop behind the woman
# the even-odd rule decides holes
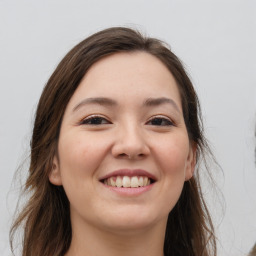
[[[167,41],[183,60],[223,169],[217,177],[223,217],[216,196],[207,194],[219,255],[246,255],[256,242],[254,0],[0,0],[0,254],[10,255],[8,232],[18,198],[11,184],[28,156],[43,86],[76,43],[120,25]]]

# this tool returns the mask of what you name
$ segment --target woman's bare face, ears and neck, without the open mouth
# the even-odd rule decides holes
[[[85,103],[95,97],[115,104]],[[143,105],[163,97],[172,102]],[[163,255],[168,214],[193,175],[195,155],[176,81],[160,60],[136,52],[96,62],[65,110],[49,176],[70,201],[66,256]],[[99,181],[123,168],[146,170],[156,182],[129,196]]]

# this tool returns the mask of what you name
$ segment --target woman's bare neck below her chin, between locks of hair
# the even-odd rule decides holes
[[[136,230],[109,231],[72,222],[72,241],[65,256],[163,256],[166,221]]]

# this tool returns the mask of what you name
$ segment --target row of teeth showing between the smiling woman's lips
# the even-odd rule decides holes
[[[139,188],[146,187],[155,181],[146,176],[112,176],[101,180],[107,186],[118,188]]]

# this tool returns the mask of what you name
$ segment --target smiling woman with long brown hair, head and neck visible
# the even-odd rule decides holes
[[[179,59],[129,28],[100,31],[41,95],[23,256],[216,255],[196,163],[208,150]],[[196,169],[196,170],[195,170]]]

